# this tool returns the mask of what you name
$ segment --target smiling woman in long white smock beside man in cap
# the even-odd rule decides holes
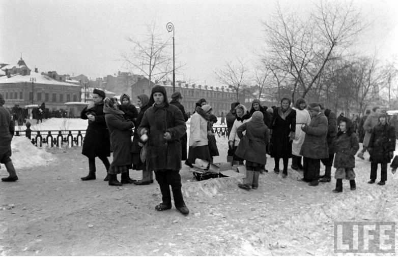
[[[296,101],[295,106],[292,108],[296,111],[296,132],[295,138],[292,143],[292,169],[293,170],[302,170],[303,165],[301,164],[301,155],[300,149],[304,143],[305,132],[301,130],[301,125],[306,124],[308,125],[311,122],[311,116],[307,109],[307,104],[303,98],[299,98]]]

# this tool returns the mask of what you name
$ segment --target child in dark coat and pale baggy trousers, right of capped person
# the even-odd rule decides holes
[[[355,154],[358,150],[359,143],[352,121],[343,117],[340,120],[336,136],[336,155],[334,157],[336,188],[333,192],[343,192],[343,179],[350,180],[351,190],[356,189],[354,167]]]

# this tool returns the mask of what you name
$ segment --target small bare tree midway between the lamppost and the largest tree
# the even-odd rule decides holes
[[[224,67],[216,69],[214,74],[220,83],[232,88],[236,93],[236,101],[239,102],[239,94],[244,92],[243,88],[248,81],[248,72],[245,63],[238,58],[237,64],[225,61]]]

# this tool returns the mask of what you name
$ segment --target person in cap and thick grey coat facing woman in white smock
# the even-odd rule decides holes
[[[328,132],[328,119],[321,112],[321,107],[317,103],[308,105],[311,114],[309,125],[303,124],[301,130],[305,132],[304,143],[301,146],[300,154],[304,157],[304,178],[310,182],[310,186],[319,184],[319,172],[321,169],[321,159],[329,156],[326,136]]]

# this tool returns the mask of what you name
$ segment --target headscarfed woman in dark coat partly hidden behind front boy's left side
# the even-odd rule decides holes
[[[140,94],[137,97],[137,105],[139,106],[139,114],[135,120],[135,129],[133,143],[131,145],[131,153],[133,154],[133,169],[142,170],[143,178],[141,180],[133,182],[136,185],[149,185],[153,183],[153,172],[148,171],[145,162],[141,162],[140,153],[145,142],[141,141],[138,135],[138,127],[141,124],[141,120],[144,117],[145,111],[150,107],[148,106],[148,95]]]

